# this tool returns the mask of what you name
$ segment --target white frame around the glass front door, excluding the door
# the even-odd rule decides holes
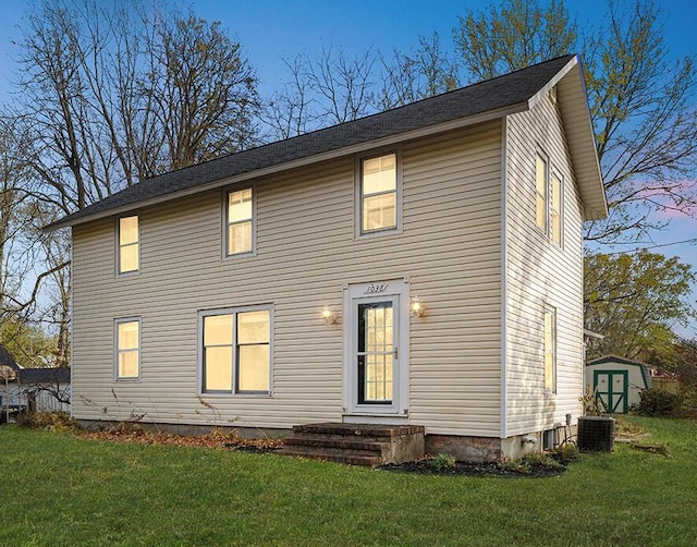
[[[392,403],[371,404],[358,403],[358,304],[369,302],[394,302],[393,317],[395,329],[393,332],[398,356],[392,370]],[[344,365],[343,365],[343,414],[344,421],[351,422],[351,416],[358,416],[362,421],[369,417],[405,418],[408,415],[409,392],[409,285],[406,279],[355,283],[344,287]]]

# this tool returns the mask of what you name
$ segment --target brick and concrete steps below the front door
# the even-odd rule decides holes
[[[424,455],[425,428],[404,425],[322,423],[293,427],[277,453],[351,465],[376,466]]]

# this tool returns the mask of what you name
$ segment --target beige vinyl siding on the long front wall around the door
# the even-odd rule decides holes
[[[140,271],[114,223],[73,229],[73,412],[84,420],[291,427],[342,420],[343,288],[408,279],[408,420],[499,435],[500,122],[403,145],[403,230],[354,235],[354,157],[257,179],[256,256],[222,257],[221,191],[144,208]],[[198,396],[198,312],[270,304],[271,396]],[[325,305],[339,315],[321,317]],[[113,380],[113,320],[142,319],[140,381]]]

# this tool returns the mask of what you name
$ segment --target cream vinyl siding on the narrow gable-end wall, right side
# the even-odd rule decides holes
[[[535,221],[535,157],[563,179],[563,246]],[[543,430],[580,412],[582,205],[561,116],[547,97],[506,123],[506,436]],[[545,390],[545,305],[557,308],[557,393]]]

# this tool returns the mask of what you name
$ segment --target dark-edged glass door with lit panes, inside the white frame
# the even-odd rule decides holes
[[[358,304],[357,315],[358,404],[390,404],[396,358],[393,302]]]

